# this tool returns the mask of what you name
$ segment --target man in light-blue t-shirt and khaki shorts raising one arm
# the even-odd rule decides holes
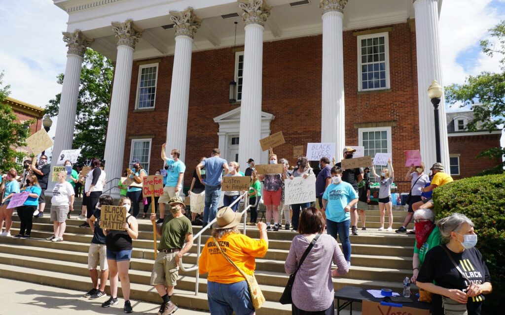
[[[168,165],[166,185],[163,187],[163,196],[160,196],[158,203],[160,204],[160,219],[157,224],[163,223],[165,219],[165,204],[169,203],[174,197],[179,197],[182,192],[182,179],[184,178],[184,171],[186,165],[179,159],[181,151],[173,149],[170,157],[165,154],[165,144],[161,146],[161,158],[163,162]],[[183,212],[184,213],[184,212]]]

